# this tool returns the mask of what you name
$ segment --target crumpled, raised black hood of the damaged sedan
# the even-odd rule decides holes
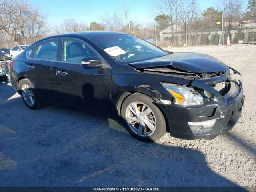
[[[224,62],[212,56],[193,52],[174,52],[172,54],[129,64],[135,68],[155,68],[171,65],[179,70],[194,73],[210,73],[228,70]]]

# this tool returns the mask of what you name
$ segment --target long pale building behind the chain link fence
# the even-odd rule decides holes
[[[230,27],[229,27],[230,26]],[[202,29],[200,24],[198,26],[189,25],[187,27],[187,41],[188,45],[197,44],[222,44],[222,29]],[[250,42],[256,41],[256,22],[247,20],[241,22],[225,22],[224,23],[224,44],[228,36],[227,29],[231,28],[229,33],[230,42],[238,44],[239,41]],[[160,41],[169,41],[170,45],[179,46],[186,43],[185,24],[165,28],[160,32]]]

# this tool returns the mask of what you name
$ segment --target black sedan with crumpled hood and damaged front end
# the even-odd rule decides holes
[[[168,52],[120,32],[50,36],[12,59],[9,68],[28,108],[52,103],[120,116],[143,141],[166,132],[215,138],[236,124],[244,101],[241,82],[220,60]]]

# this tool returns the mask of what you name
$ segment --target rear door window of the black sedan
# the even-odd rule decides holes
[[[57,61],[58,39],[39,43],[34,52],[35,59]],[[33,57],[32,57],[33,58]]]

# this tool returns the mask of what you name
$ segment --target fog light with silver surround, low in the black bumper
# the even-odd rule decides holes
[[[188,125],[193,134],[200,135],[209,132],[214,126],[216,119],[201,121],[201,122],[188,122]]]

